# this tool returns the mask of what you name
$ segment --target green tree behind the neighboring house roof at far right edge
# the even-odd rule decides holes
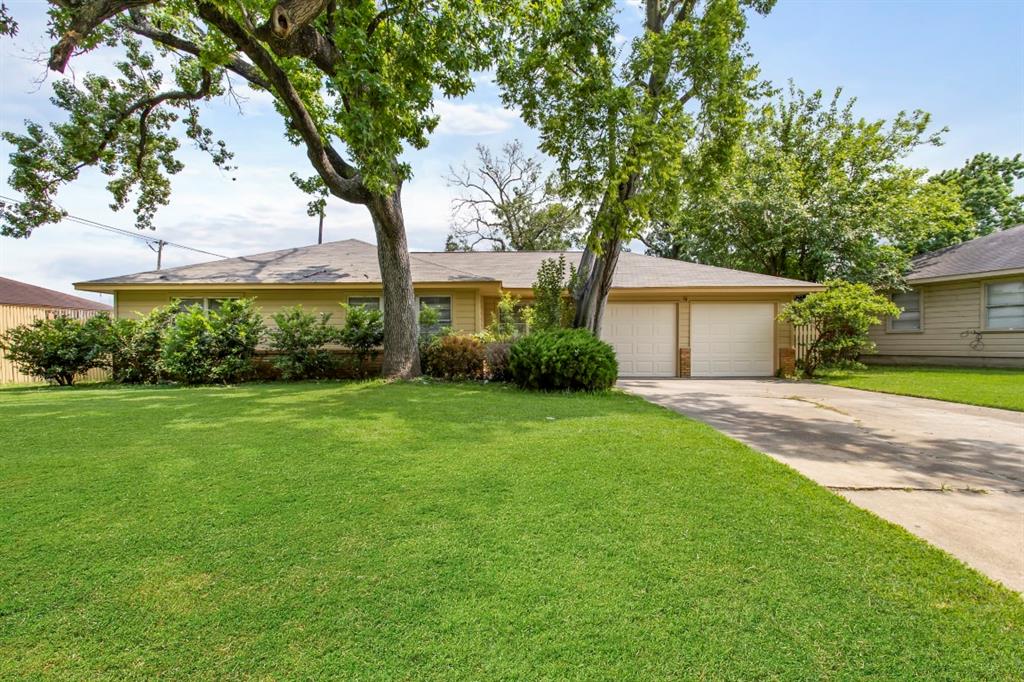
[[[913,250],[934,251],[1024,223],[1024,191],[1017,190],[1021,180],[1024,180],[1024,158],[1020,154],[1001,158],[978,154],[961,168],[933,175],[930,183],[959,193],[973,220],[929,235]]]

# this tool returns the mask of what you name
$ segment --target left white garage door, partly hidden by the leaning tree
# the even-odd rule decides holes
[[[676,376],[675,303],[609,303],[601,338],[615,349],[618,376]]]

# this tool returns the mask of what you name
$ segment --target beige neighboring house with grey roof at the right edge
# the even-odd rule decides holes
[[[1024,367],[1024,225],[918,256],[906,281],[864,359]]]

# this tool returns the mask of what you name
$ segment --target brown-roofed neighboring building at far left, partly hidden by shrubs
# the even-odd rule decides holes
[[[111,306],[90,301],[71,294],[61,294],[52,289],[0,278],[0,334],[8,329],[30,325],[36,319],[66,316],[85,319]],[[102,370],[90,370],[87,379],[100,380],[106,377]],[[0,384],[27,384],[38,382],[38,377],[22,374],[0,349]]]

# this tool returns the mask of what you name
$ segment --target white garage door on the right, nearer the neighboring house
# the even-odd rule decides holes
[[[690,304],[693,377],[770,377],[774,340],[772,303]]]

